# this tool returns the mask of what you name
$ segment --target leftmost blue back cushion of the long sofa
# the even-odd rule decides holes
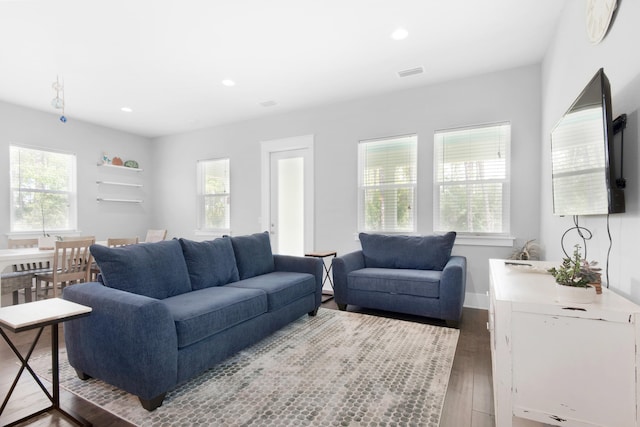
[[[105,286],[163,299],[191,291],[187,264],[177,240],[108,248],[91,245]]]

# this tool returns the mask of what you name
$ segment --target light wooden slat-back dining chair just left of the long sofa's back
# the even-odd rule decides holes
[[[42,291],[46,297],[50,289],[53,289],[53,297],[56,298],[58,285],[62,290],[66,285],[88,282],[93,262],[89,247],[95,241],[95,237],[57,241],[53,269],[47,273],[36,274],[36,298],[40,297]],[[42,287],[42,284],[46,286]]]

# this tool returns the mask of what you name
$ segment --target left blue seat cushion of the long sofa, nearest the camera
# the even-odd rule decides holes
[[[186,347],[267,311],[259,289],[214,286],[162,300],[176,324],[178,347]]]

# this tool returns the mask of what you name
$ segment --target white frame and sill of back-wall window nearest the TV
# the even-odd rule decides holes
[[[440,169],[440,161],[441,157],[441,142],[438,140],[439,135],[446,133],[454,133],[454,132],[462,132],[462,131],[473,131],[473,130],[481,130],[490,127],[499,127],[499,126],[507,126],[506,130],[506,140],[504,141],[503,146],[499,146],[498,153],[501,153],[502,157],[505,159],[505,175],[503,179],[486,179],[486,180],[458,180],[458,181],[450,181],[448,183],[443,183],[441,181],[441,177],[438,176]],[[499,144],[499,141],[496,141]],[[502,121],[495,123],[487,123],[487,124],[478,124],[472,126],[464,126],[457,128],[448,128],[448,129],[439,129],[434,132],[434,144],[433,144],[433,230],[436,233],[441,233],[445,230],[440,224],[440,191],[441,187],[447,185],[469,185],[470,183],[500,183],[502,184],[502,230],[500,232],[478,232],[478,231],[467,231],[467,230],[454,230],[458,234],[458,240],[461,242],[464,241],[466,244],[478,244],[483,246],[509,246],[512,244],[513,237],[510,237],[511,233],[511,143],[512,143],[512,126],[510,121]],[[491,144],[494,144],[492,142]],[[467,198],[467,204],[469,204],[469,199]],[[469,224],[467,223],[467,226]]]

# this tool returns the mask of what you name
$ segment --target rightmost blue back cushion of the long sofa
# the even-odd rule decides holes
[[[240,279],[271,273],[274,270],[269,233],[256,233],[231,238]]]

